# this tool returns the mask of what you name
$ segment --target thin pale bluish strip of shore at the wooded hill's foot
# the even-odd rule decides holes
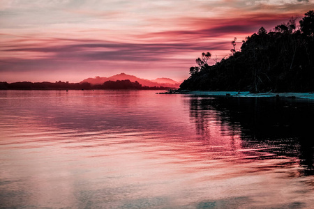
[[[300,98],[314,100],[314,93],[250,93],[248,91],[167,91],[160,94],[190,94],[190,95],[207,95],[207,96],[226,96],[238,98]]]

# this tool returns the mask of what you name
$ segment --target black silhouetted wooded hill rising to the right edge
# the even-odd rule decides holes
[[[236,52],[236,38],[227,59],[208,65],[211,53],[202,53],[180,89],[201,91],[311,92],[314,91],[314,13],[278,25],[261,27]]]

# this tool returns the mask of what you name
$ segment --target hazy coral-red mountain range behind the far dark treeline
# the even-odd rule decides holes
[[[153,80],[149,80],[149,79],[141,79],[139,77],[136,77],[134,75],[127,75],[125,73],[120,73],[117,75],[113,75],[111,77],[94,77],[91,78],[89,77],[88,79],[84,79],[82,80],[82,82],[80,82],[81,84],[84,82],[87,82],[89,84],[92,85],[96,85],[96,84],[103,84],[107,81],[117,81],[117,80],[130,80],[130,82],[139,82],[140,84],[142,84],[142,86],[163,86],[163,87],[171,87],[171,88],[179,88],[180,84],[179,82],[176,82],[170,78],[158,78],[158,79],[153,79]]]

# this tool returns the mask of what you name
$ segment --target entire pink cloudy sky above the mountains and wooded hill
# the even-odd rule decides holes
[[[80,82],[125,72],[188,77],[202,52],[303,17],[314,0],[0,0],[0,82]]]

